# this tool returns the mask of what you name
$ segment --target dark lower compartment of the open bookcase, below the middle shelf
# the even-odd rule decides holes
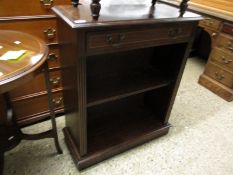
[[[159,92],[153,90],[149,93]],[[152,109],[153,96],[149,93],[88,108],[88,151],[105,150],[166,126],[163,116],[159,116],[159,106]]]

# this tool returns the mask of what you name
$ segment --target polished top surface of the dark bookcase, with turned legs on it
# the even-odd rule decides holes
[[[98,20],[91,16],[91,0],[81,0],[77,8],[72,5],[53,7],[57,16],[72,28],[120,26],[133,24],[153,24],[158,22],[198,21],[201,16],[186,11],[180,16],[179,8],[158,2],[151,6],[151,0],[101,0],[101,11]]]

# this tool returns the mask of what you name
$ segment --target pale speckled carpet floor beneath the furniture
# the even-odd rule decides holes
[[[191,58],[170,117],[169,134],[79,172],[64,144],[57,119],[63,155],[53,141],[22,141],[5,156],[6,175],[232,175],[233,105],[197,84],[204,61]],[[43,131],[50,122],[24,130]]]

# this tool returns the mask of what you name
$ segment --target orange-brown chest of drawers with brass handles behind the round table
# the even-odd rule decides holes
[[[56,113],[63,112],[63,87],[54,5],[70,4],[70,0],[0,1],[0,29],[17,30],[44,40],[49,46],[50,81],[53,85]],[[48,117],[44,78],[36,77],[10,92],[15,117],[20,125],[28,125]]]

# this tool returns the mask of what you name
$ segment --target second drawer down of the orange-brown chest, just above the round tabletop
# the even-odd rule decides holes
[[[29,33],[41,38],[47,44],[57,43],[55,18],[1,21],[0,29]]]

